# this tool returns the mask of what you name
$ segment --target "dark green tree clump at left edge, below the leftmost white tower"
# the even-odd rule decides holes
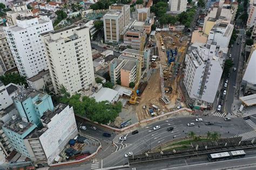
[[[5,86],[9,83],[25,84],[25,86],[28,86],[28,84],[26,83],[26,77],[23,77],[18,73],[4,74],[0,76],[0,81],[2,81]]]

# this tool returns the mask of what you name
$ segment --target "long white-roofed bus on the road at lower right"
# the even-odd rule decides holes
[[[244,150],[238,150],[238,151],[208,154],[207,158],[210,162],[213,162],[213,161],[220,161],[220,160],[226,160],[226,159],[242,158],[242,157],[245,157],[245,154],[246,153]]]

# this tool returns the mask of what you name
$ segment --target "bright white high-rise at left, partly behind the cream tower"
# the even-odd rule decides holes
[[[30,78],[48,69],[46,54],[40,34],[53,30],[51,20],[37,17],[18,17],[17,25],[4,27],[8,44],[19,74]]]

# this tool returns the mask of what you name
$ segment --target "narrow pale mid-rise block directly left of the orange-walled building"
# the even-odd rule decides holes
[[[120,71],[121,68],[125,65],[124,60],[120,59],[113,59],[109,63],[109,75],[110,75],[110,81],[113,84],[117,83],[117,80],[120,80]]]

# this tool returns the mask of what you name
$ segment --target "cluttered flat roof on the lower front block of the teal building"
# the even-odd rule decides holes
[[[15,133],[23,134],[26,130],[30,129],[33,125],[35,124],[24,122],[20,117],[17,117],[16,119],[11,119],[9,122],[4,124],[4,127]]]

